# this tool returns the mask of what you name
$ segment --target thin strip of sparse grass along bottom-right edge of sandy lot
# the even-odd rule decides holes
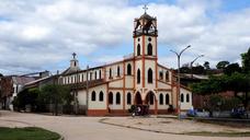
[[[211,131],[195,131],[195,132],[184,132],[182,135],[190,136],[209,136],[209,137],[250,137],[250,131],[246,132],[211,132]]]

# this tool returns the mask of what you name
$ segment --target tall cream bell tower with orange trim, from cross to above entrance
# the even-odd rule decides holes
[[[157,89],[157,19],[147,13],[134,20],[135,88],[143,94]],[[145,91],[146,90],[146,91]]]

